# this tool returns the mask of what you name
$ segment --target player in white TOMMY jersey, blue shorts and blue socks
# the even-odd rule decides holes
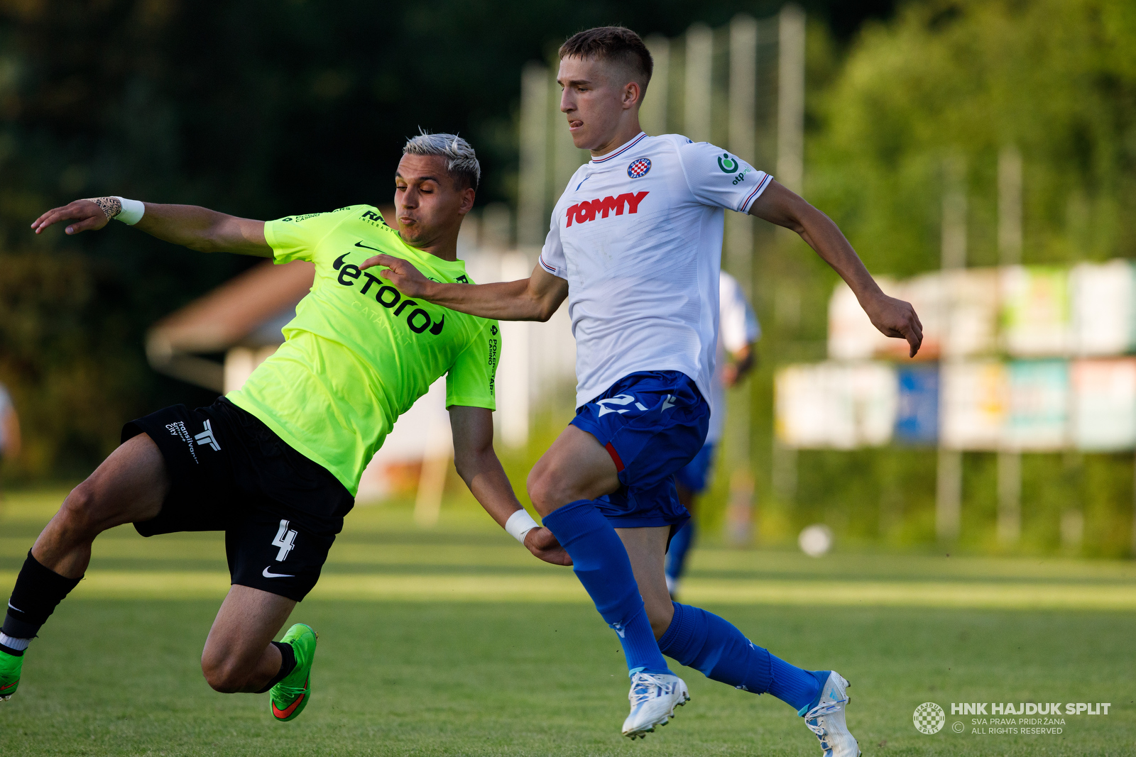
[[[528,494],[619,634],[632,678],[623,732],[643,735],[688,699],[665,654],[772,693],[804,716],[826,756],[855,757],[838,673],[790,665],[667,592],[667,540],[688,519],[674,473],[709,423],[724,209],[797,232],[912,355],[921,326],[910,304],[879,289],[828,217],[769,175],[712,144],[644,134],[638,108],[651,68],[643,42],[621,27],[580,32],[560,48],[560,110],[592,160],[557,203],[529,278],[462,286],[431,281],[390,255],[365,264],[385,266],[381,276],[407,296],[486,318],[546,320],[568,298],[576,417],[533,468]]]

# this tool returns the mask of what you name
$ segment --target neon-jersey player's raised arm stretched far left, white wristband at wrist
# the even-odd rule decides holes
[[[147,234],[199,252],[234,252],[242,255],[272,258],[273,249],[265,241],[265,222],[219,213],[198,205],[164,205],[143,203],[145,212],[134,226]],[[52,224],[67,222],[67,234],[98,230],[122,212],[118,197],[76,200],[53,208],[35,219],[36,234]]]

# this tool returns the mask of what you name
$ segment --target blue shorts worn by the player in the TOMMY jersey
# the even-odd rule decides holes
[[[690,520],[675,473],[702,448],[710,405],[686,375],[625,376],[577,409],[571,423],[599,439],[616,463],[623,486],[596,499],[613,527],[682,527]]]

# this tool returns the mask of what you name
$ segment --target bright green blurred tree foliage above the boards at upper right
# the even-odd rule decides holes
[[[969,166],[971,266],[997,262],[997,154],[1024,155],[1025,262],[1136,256],[1136,6],[935,0],[864,30],[819,108],[810,195],[879,272],[939,258]]]

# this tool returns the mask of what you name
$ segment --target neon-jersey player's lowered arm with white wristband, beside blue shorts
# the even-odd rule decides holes
[[[485,512],[510,532],[515,529],[507,528],[507,523],[513,514],[523,513],[520,520],[531,521],[517,502],[501,461],[493,452],[493,412],[485,407],[453,405],[450,407],[450,427],[453,430],[453,464]],[[571,565],[571,557],[552,531],[544,527],[529,528],[524,533],[524,544],[546,563]]]

